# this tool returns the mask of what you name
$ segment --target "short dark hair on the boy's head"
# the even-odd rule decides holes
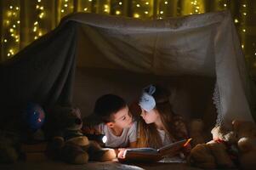
[[[112,115],[126,106],[126,102],[115,94],[105,94],[96,100],[94,114],[102,122],[113,122]]]

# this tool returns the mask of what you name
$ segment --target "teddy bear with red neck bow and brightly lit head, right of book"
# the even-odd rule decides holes
[[[236,158],[236,133],[227,131],[224,127],[213,127],[213,140],[206,144],[196,144],[188,156],[191,165],[202,168],[233,168],[236,167],[231,156]],[[231,156],[230,156],[231,155]]]

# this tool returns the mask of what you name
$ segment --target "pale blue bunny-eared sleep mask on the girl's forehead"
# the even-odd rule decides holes
[[[156,106],[156,100],[152,96],[156,91],[156,87],[150,85],[143,89],[142,95],[139,99],[139,106],[145,111],[151,111]]]

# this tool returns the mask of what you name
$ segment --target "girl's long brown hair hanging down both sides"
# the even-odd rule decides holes
[[[164,131],[168,134],[171,141],[185,138],[176,135],[176,133],[179,134],[174,127],[174,121],[177,115],[174,114],[172,105],[169,103],[170,92],[166,88],[162,88],[158,85],[154,86],[156,87],[156,91],[152,96],[156,100],[155,109],[159,112]],[[140,118],[138,147],[152,147],[156,149],[162,147],[162,139],[159,136],[155,123],[146,124],[145,121]]]

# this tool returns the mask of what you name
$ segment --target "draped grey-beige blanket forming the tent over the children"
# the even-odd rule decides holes
[[[1,65],[2,111],[29,101],[71,104],[76,67],[169,79],[213,77],[217,123],[253,121],[250,83],[229,12],[166,20],[72,14]]]

